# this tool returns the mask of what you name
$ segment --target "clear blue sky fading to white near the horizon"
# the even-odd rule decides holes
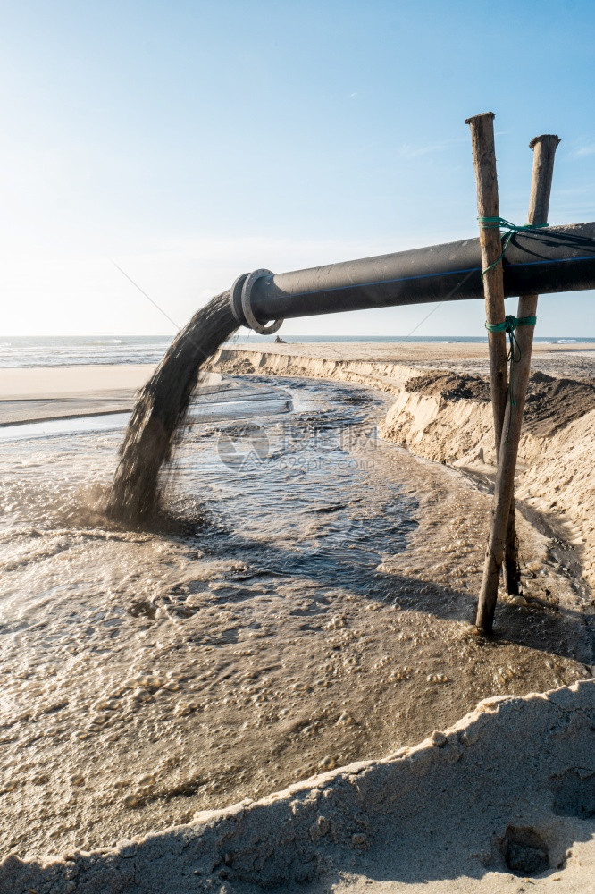
[[[465,118],[494,111],[500,207],[563,139],[550,223],[595,219],[589,0],[0,2],[4,334],[171,333],[239,273],[476,233]],[[595,295],[540,302],[595,336]],[[511,305],[511,309],[514,308]],[[291,321],[406,334],[427,307]],[[416,334],[478,334],[481,302]]]

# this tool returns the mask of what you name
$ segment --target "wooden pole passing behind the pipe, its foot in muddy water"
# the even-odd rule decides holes
[[[559,138],[553,134],[532,139],[533,171],[531,198],[529,202],[529,223],[546,223],[549,209],[549,193],[554,171],[554,155]],[[537,295],[522,295],[518,303],[518,318],[535,316]],[[507,548],[508,520],[515,490],[516,458],[523,425],[524,400],[531,373],[531,352],[533,326],[519,326],[515,331],[518,361],[514,366],[512,400],[507,401],[502,441],[499,450],[498,473],[494,488],[494,502],[491,512],[490,536],[483,565],[482,589],[480,592],[475,624],[490,633],[494,622],[494,611],[498,598],[500,568]],[[511,549],[512,549],[511,544]]]

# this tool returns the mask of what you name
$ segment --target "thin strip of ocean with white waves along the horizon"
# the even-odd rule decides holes
[[[70,335],[0,337],[0,367],[70,367],[94,364],[158,363],[172,342],[172,335]],[[293,335],[288,343],[314,342],[437,342],[481,343],[485,336],[386,336],[386,335]],[[230,339],[255,344],[272,343],[271,336],[241,330]],[[595,338],[537,337],[542,344],[593,344]]]

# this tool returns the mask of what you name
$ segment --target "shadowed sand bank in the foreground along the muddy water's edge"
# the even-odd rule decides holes
[[[0,864],[3,890],[590,894],[595,687],[492,698],[414,748],[117,848]]]

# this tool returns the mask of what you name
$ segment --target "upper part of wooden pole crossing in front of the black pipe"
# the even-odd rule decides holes
[[[499,217],[498,177],[496,174],[496,150],[494,148],[494,113],[485,112],[467,118],[471,128],[473,167],[477,184],[477,214],[480,217]],[[480,226],[482,268],[493,264],[502,253],[500,231]],[[483,277],[485,314],[488,323],[502,323],[505,316],[504,283],[502,265],[492,267]],[[491,408],[494,414],[496,456],[502,438],[502,425],[508,394],[507,336],[506,333],[488,333],[490,353]]]

